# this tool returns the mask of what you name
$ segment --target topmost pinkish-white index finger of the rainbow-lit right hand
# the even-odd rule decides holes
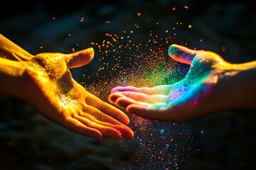
[[[117,91],[134,91],[142,94],[169,94],[171,86],[169,85],[161,85],[161,86],[154,86],[154,87],[134,87],[134,86],[117,86],[114,87],[111,91],[111,93],[117,92]]]

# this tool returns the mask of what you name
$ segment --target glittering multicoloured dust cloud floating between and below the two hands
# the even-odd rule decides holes
[[[114,86],[158,86],[183,79],[189,66],[172,60],[168,55],[169,45],[175,38],[175,35],[166,36],[150,39],[145,44],[133,44],[125,33],[106,33],[102,42],[92,42],[102,54],[99,62],[103,67],[97,70],[98,79],[84,84],[85,88],[107,101]],[[119,140],[122,144],[114,144],[127,155],[123,169],[178,169],[188,166],[186,159],[191,153],[193,137],[186,125],[128,116],[134,139]]]

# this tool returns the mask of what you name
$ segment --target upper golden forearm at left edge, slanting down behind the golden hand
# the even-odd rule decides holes
[[[14,61],[28,61],[33,55],[0,34],[0,57]]]

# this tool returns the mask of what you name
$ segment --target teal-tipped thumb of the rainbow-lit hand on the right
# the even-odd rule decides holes
[[[181,45],[170,45],[168,49],[169,56],[177,62],[191,64],[193,58],[203,50],[191,50]]]

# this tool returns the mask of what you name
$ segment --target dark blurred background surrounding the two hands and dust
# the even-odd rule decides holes
[[[137,16],[138,12],[142,16]],[[84,21],[80,22],[82,17]],[[166,29],[175,27],[176,30],[170,31],[176,33],[171,42],[211,50],[228,62],[247,62],[256,59],[255,22],[255,3],[242,0],[59,4],[7,1],[0,11],[0,33],[33,55],[70,53],[72,48],[82,50],[91,47],[91,42],[102,42],[105,33],[121,34],[123,30],[134,29],[137,23],[140,28],[131,37],[133,42],[147,42],[150,31],[161,36]],[[189,24],[192,28],[188,28]],[[97,63],[100,57],[102,53],[96,47],[92,63],[72,70],[74,79],[84,81],[82,74],[87,69],[86,74],[93,79],[85,83],[97,80],[94,75],[95,68],[101,67]],[[163,149],[164,159],[152,159],[153,156],[147,156],[152,154],[149,150],[155,149],[153,153],[157,153],[157,149],[167,144],[162,145],[160,136],[150,137],[150,132],[133,123],[131,128],[138,131],[134,140],[94,140],[46,120],[17,98],[0,96],[0,106],[0,169],[253,169],[255,166],[255,110],[225,111],[186,125],[156,123],[156,128],[148,130],[161,127],[174,130],[167,135],[171,134],[180,147]],[[159,147],[152,145],[153,139],[153,144]],[[140,140],[146,141],[147,146],[142,147]],[[138,151],[143,148],[147,150]],[[170,156],[172,153],[175,157]]]

